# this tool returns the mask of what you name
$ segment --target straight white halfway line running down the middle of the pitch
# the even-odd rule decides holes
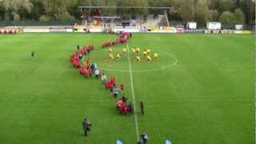
[[[130,88],[131,88],[131,94],[133,96],[133,102],[134,102],[134,118],[135,118],[135,127],[136,127],[136,135],[137,135],[137,141],[139,140],[138,135],[138,119],[136,114],[136,103],[135,103],[135,94],[134,94],[134,82],[133,82],[133,70],[131,68],[131,62],[130,62],[130,51],[129,51],[129,44],[127,42],[126,45],[127,53],[128,53],[128,65],[129,65],[129,73],[130,73]]]

